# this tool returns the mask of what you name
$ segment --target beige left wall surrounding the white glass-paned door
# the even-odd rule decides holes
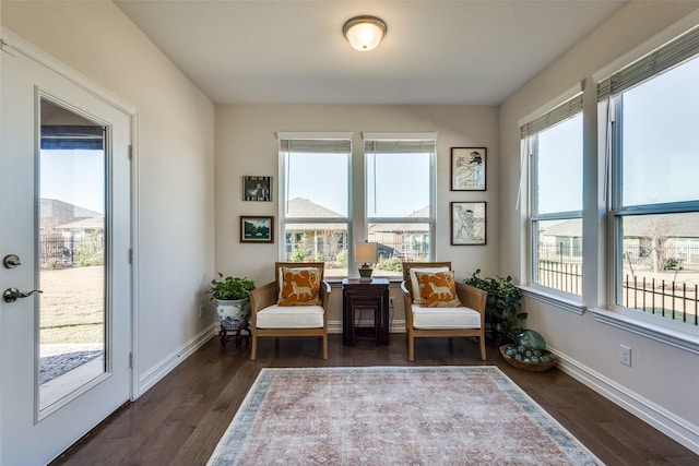
[[[111,2],[7,1],[2,26],[138,108],[138,327],[147,386],[214,323],[214,106]]]

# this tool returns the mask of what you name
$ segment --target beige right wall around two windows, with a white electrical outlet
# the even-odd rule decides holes
[[[514,210],[512,200],[519,186],[520,139],[518,120],[556,98],[566,89],[587,80],[585,111],[596,112],[596,88],[592,82],[595,71],[626,55],[635,47],[671,26],[699,8],[699,2],[631,2],[578,44],[538,76],[510,96],[500,106],[500,152],[502,170],[500,186],[500,262],[501,273],[524,279],[523,261],[526,241],[523,235],[524,211]],[[602,217],[595,204],[595,170],[597,141],[595,118],[585,122],[593,131],[587,143],[585,154],[588,192],[585,227],[585,264],[600,258],[606,264],[603,244],[597,238],[603,234]],[[601,199],[601,198],[600,198]],[[603,205],[603,203],[602,203]],[[603,211],[602,211],[603,212]],[[595,270],[588,270],[583,303],[589,308],[604,307],[606,282],[597,277]],[[594,286],[590,286],[590,284]],[[596,289],[595,289],[596,287]],[[566,361],[567,370],[596,387],[605,395],[643,418],[650,418],[666,432],[699,451],[699,404],[696,398],[699,386],[699,357],[692,350],[678,349],[670,344],[640,336],[625,330],[601,323],[590,311],[578,315],[558,306],[528,298],[528,326],[541,331],[553,348]],[[694,348],[699,338],[691,336]],[[632,349],[632,366],[619,362],[619,345]]]

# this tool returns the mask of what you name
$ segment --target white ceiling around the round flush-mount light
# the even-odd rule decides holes
[[[116,0],[217,104],[497,105],[627,0]],[[348,19],[381,17],[359,52]]]

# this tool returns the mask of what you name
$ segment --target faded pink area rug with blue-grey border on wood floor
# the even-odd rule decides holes
[[[262,369],[209,465],[601,465],[498,368]]]

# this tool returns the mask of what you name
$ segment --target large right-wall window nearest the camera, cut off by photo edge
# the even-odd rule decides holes
[[[694,326],[698,82],[695,31],[612,75],[597,91],[609,115],[614,304]]]

